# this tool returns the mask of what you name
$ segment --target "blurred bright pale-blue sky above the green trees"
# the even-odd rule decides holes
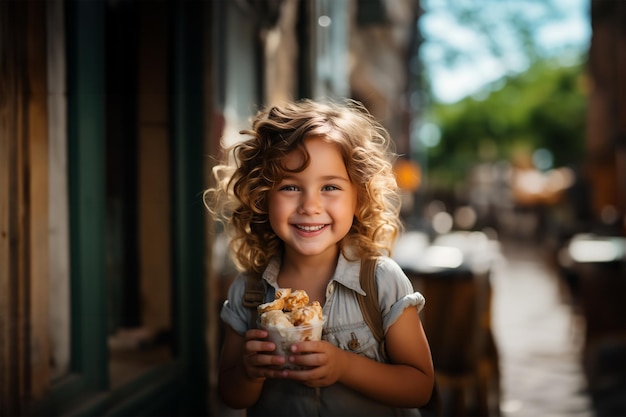
[[[505,14],[516,14],[532,22],[532,36],[544,56],[568,59],[579,56],[589,47],[591,0],[551,0],[554,11],[546,14],[546,0],[422,0],[425,14],[420,19],[424,36],[420,54],[432,91],[438,101],[452,103],[481,90],[486,84],[506,74],[522,72],[527,59],[515,43],[511,26],[503,24]],[[490,53],[485,35],[461,26],[450,13],[450,2],[458,2],[480,14],[490,24],[490,33],[505,51]],[[463,51],[463,59],[453,67],[444,63],[446,48],[452,45]]]

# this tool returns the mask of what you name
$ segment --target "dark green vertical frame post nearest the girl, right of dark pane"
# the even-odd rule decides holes
[[[206,348],[204,164],[204,19],[205,3],[176,3],[173,46],[174,149],[174,318],[177,353],[185,372],[185,415],[206,415],[208,359]]]

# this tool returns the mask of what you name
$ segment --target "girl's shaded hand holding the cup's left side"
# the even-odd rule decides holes
[[[285,358],[272,353],[276,345],[265,340],[266,338],[265,330],[250,329],[246,332],[243,367],[248,378],[252,380],[285,376],[282,370],[277,369],[277,366],[285,364]]]

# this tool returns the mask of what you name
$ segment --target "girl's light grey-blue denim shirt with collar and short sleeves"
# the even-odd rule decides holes
[[[383,362],[378,343],[363,319],[356,293],[365,294],[359,283],[360,261],[339,257],[333,278],[326,287],[325,317],[322,339],[333,345]],[[265,272],[265,301],[274,299],[278,287],[280,259],[273,259]],[[245,274],[240,274],[228,291],[221,311],[222,320],[235,332],[244,335],[250,323],[250,310],[242,305]],[[383,329],[400,317],[404,309],[419,312],[424,297],[413,286],[400,266],[392,259],[380,257],[376,265],[378,299],[383,317]],[[351,340],[358,340],[352,343]],[[356,348],[355,348],[356,346]],[[351,349],[352,347],[352,349]],[[310,388],[285,379],[266,379],[257,403],[248,409],[252,416],[419,416],[417,409],[393,408],[380,404],[342,384]]]

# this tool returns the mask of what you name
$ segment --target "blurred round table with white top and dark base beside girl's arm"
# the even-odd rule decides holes
[[[490,266],[497,242],[477,232],[403,235],[394,259],[426,298],[421,318],[430,344],[443,416],[497,416],[498,353],[491,332]]]

